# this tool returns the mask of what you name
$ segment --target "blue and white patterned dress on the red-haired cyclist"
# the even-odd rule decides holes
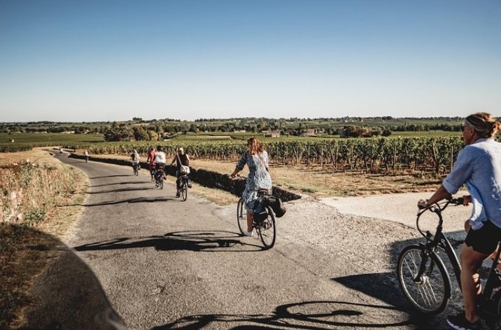
[[[263,151],[260,154],[266,166],[268,166],[268,153]],[[266,189],[271,192],[271,177],[269,176],[266,167],[257,155],[252,155],[248,151],[242,155],[237,168],[239,170],[244,170],[244,166],[247,164],[249,167],[249,174],[246,181],[246,188],[244,193],[242,193],[242,199],[246,205],[246,210],[249,213],[253,213],[254,202],[257,200],[257,191]]]

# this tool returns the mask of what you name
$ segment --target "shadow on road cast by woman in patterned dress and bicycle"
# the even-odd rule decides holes
[[[80,245],[73,247],[73,249],[76,251],[97,251],[153,247],[157,251],[192,252],[257,252],[263,249],[260,245],[239,240],[240,237],[241,235],[230,231],[181,231],[165,235],[115,238],[109,241]]]

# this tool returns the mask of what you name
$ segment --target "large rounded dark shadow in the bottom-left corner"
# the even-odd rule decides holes
[[[22,233],[23,238],[11,247],[15,256],[0,259],[5,261],[0,265],[2,282],[15,284],[10,288],[0,284],[0,296],[9,294],[0,299],[0,329],[10,329],[20,310],[23,322],[16,329],[127,329],[97,277],[72,249],[32,228],[1,224],[0,233]],[[0,239],[2,249],[9,248],[6,242],[5,236]]]

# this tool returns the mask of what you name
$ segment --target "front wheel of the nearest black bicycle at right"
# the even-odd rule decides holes
[[[435,252],[424,252],[423,245],[409,245],[402,250],[397,263],[398,281],[414,308],[426,314],[437,314],[449,302],[451,280],[442,259]]]

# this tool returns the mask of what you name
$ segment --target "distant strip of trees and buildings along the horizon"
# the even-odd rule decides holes
[[[430,118],[400,118],[403,123],[395,125],[395,118],[383,116],[379,118],[200,118],[193,122],[176,119],[153,119],[143,121],[134,117],[133,121],[122,123],[55,123],[50,121],[30,123],[0,123],[0,132],[47,132],[74,134],[103,134],[106,141],[156,141],[178,134],[211,132],[277,132],[280,135],[309,135],[314,130],[316,134],[340,135],[341,137],[373,137],[388,136],[392,132],[426,132],[430,130],[460,131],[460,118],[437,118],[437,121],[451,123],[430,123]],[[426,124],[419,123],[424,121]],[[376,121],[377,124],[371,124]],[[391,122],[391,123],[389,123]]]

